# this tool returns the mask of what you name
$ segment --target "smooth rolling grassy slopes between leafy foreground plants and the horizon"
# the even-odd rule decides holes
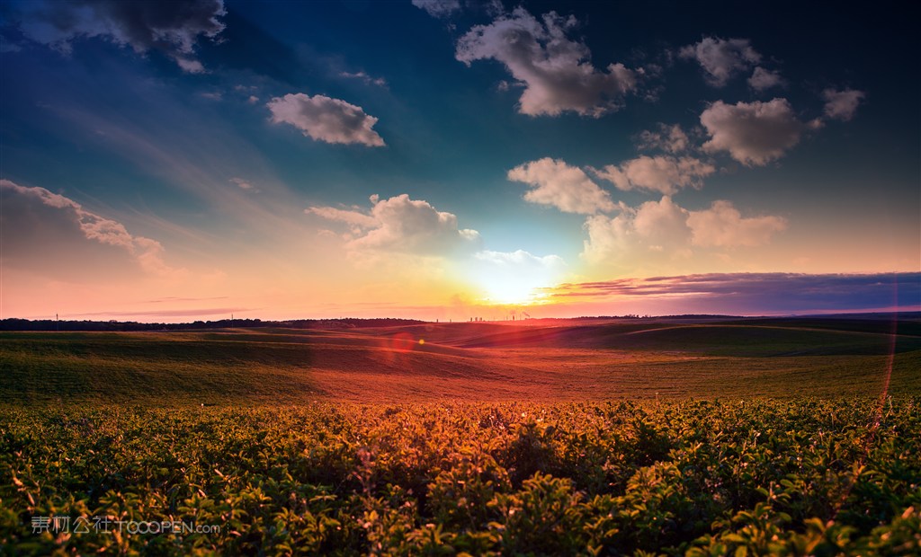
[[[0,400],[600,400],[921,392],[921,336],[834,319],[0,334]],[[425,340],[420,344],[419,340]],[[894,352],[894,356],[892,355]]]

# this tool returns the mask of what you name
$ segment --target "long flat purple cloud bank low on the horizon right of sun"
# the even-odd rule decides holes
[[[674,299],[679,313],[921,309],[921,273],[706,273],[561,284],[557,298]]]

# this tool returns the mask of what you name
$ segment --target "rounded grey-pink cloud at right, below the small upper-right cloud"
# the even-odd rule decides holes
[[[747,166],[764,166],[782,157],[808,127],[797,119],[787,99],[734,105],[717,100],[701,113],[700,122],[710,135],[705,151],[727,151]]]

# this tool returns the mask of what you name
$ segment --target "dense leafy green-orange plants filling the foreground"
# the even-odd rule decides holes
[[[0,409],[10,553],[921,551],[921,399]],[[36,516],[217,533],[33,534]],[[72,522],[73,523],[73,522]]]

